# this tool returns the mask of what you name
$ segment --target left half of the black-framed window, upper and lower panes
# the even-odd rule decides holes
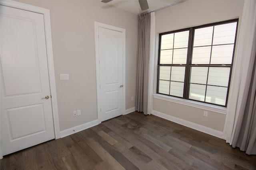
[[[183,97],[189,30],[162,35],[158,92]]]

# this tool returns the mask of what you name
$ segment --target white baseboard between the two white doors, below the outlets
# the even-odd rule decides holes
[[[90,127],[96,126],[98,124],[99,124],[98,123],[98,119],[96,119],[94,121],[90,121],[90,122],[84,123],[82,125],[78,125],[78,126],[66,129],[64,131],[60,131],[60,138],[66,137],[68,135],[72,135],[72,134],[80,132],[80,131],[83,131],[85,129],[88,129]]]

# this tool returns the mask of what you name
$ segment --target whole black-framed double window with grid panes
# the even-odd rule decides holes
[[[157,93],[226,107],[237,23],[160,33]]]

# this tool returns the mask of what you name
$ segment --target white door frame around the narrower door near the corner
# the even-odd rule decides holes
[[[120,28],[120,27],[115,27],[112,25],[108,25],[105,23],[100,23],[100,22],[96,22],[94,21],[94,39],[95,39],[95,61],[96,61],[96,83],[97,83],[97,109],[98,109],[98,123],[100,124],[102,122],[102,113],[101,113],[101,107],[100,107],[100,56],[99,56],[99,41],[98,41],[98,28],[102,27],[102,28],[106,28],[106,29],[111,29],[114,31],[119,31],[122,32],[123,34],[123,69],[122,69],[122,75],[123,75],[123,99],[122,99],[122,103],[123,103],[123,110],[122,110],[122,114],[125,114],[125,54],[126,54],[126,45],[125,45],[125,29],[124,28]]]

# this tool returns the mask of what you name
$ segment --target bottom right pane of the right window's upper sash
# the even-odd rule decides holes
[[[231,64],[234,45],[212,46],[211,64]]]

